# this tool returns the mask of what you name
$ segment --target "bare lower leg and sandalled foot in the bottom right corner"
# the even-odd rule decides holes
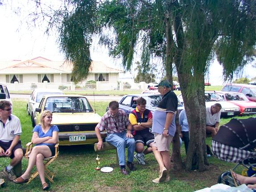
[[[247,184],[248,188],[256,188],[256,176],[248,177],[236,174],[231,170],[235,185]]]

